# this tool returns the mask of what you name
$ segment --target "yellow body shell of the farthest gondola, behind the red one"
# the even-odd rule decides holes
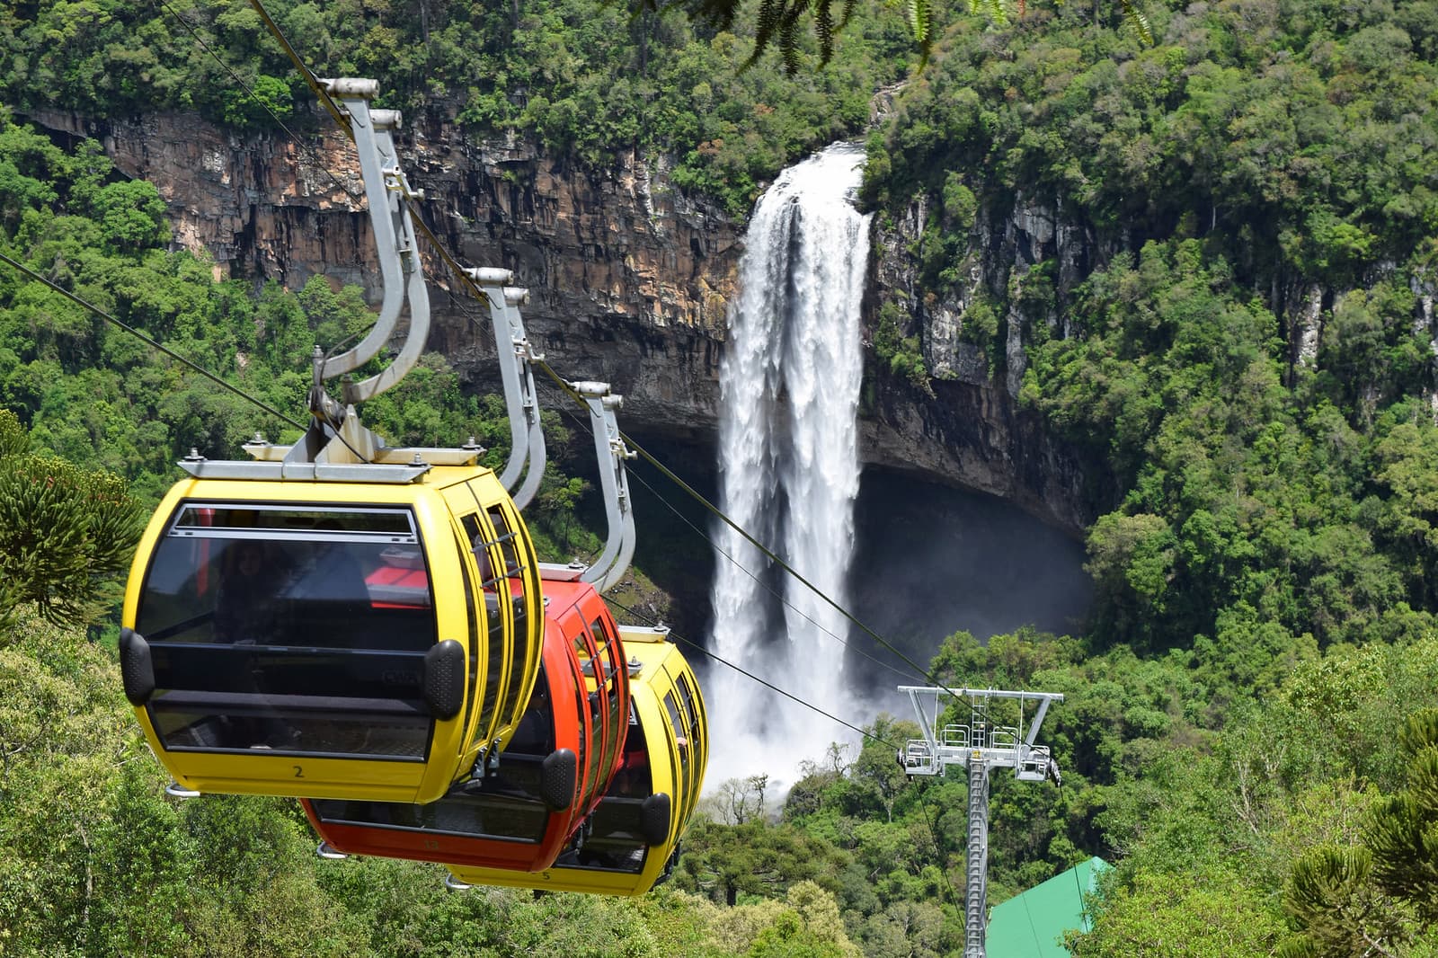
[[[446,866],[457,880],[466,885],[499,885],[546,892],[643,895],[666,873],[670,856],[689,827],[689,818],[703,788],[705,767],[709,761],[707,718],[693,669],[673,643],[634,642],[624,646],[624,654],[638,659],[643,666],[640,673],[630,679],[630,702],[644,729],[649,748],[650,791],[670,797],[672,814],[666,840],[649,847],[638,872],[564,865],[544,872]],[[666,698],[680,695],[680,680],[692,692],[695,718],[693,724],[684,719],[680,706],[680,728],[687,734],[683,742],[664,705]],[[687,761],[683,749],[689,749]]]

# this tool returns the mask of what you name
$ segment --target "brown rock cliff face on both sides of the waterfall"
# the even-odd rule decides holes
[[[283,134],[239,137],[193,115],[30,119],[102,141],[122,173],[152,181],[170,204],[175,242],[209,250],[216,276],[299,288],[322,273],[372,291],[378,270],[358,165],[338,132],[301,147]],[[626,397],[628,432],[715,444],[742,223],[674,188],[663,157],[630,154],[595,173],[525,142],[476,142],[446,124],[407,128],[400,140],[410,183],[427,196],[426,222],[462,262],[515,270],[531,291],[531,341],[557,370],[611,383]],[[916,210],[899,236],[881,237],[893,242],[876,243],[889,252],[873,268],[869,314],[884,299],[906,302],[923,318],[930,370],[948,378],[935,380],[930,397],[871,368],[861,459],[1011,499],[1077,532],[1091,519],[1083,469],[1015,403],[1018,324],[1008,377],[994,381],[984,357],[956,337],[965,304],[915,299],[903,250],[922,219]],[[1064,242],[1054,217],[1032,207],[1001,224],[988,255],[1074,256]],[[487,311],[459,293],[439,257],[429,265],[430,347],[476,387],[493,387]]]

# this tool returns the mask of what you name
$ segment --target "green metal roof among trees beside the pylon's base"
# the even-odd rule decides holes
[[[1109,863],[1094,857],[989,909],[988,958],[1067,958],[1063,935],[1086,929],[1080,888],[1091,892]]]

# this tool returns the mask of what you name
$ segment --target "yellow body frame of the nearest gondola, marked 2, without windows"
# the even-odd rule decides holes
[[[462,554],[459,524],[453,515],[446,491],[459,486],[464,496],[475,502],[470,511],[480,516],[486,511],[498,511],[509,524],[509,532],[518,552],[528,557],[521,568],[510,570],[509,585],[522,596],[528,614],[521,623],[525,630],[522,644],[523,659],[509,662],[515,644],[515,617],[505,617],[503,654],[499,662],[490,662],[483,623],[479,629],[477,647],[470,642],[470,610],[466,603],[466,577],[475,575],[475,560]],[[151,751],[175,781],[201,793],[236,793],[288,795],[305,798],[358,798],[375,801],[427,803],[443,795],[452,784],[464,777],[480,745],[485,744],[476,732],[477,715],[489,711],[503,716],[508,731],[523,711],[538,675],[539,649],[542,643],[544,616],[541,608],[539,572],[533,561],[533,547],[512,499],[499,485],[493,472],[477,466],[436,466],[411,483],[368,483],[368,482],[311,482],[311,480],[221,480],[184,479],[164,498],[151,516],[141,538],[131,567],[125,591],[122,624],[134,629],[145,587],[148,564],[165,537],[170,524],[186,501],[233,503],[256,506],[286,503],[296,508],[347,506],[403,506],[413,511],[424,549],[426,570],[433,593],[433,614],[436,643],[453,639],[464,647],[464,701],[472,708],[462,708],[449,719],[433,719],[431,735],[423,759],[395,759],[388,757],[311,757],[306,754],[267,754],[263,747],[253,751],[203,751],[203,748],[167,749],[157,734],[147,705],[135,706]],[[490,528],[486,525],[485,528]],[[490,529],[492,531],[492,529]],[[487,537],[493,538],[493,535]],[[480,593],[476,580],[469,578],[472,596]],[[508,611],[509,604],[500,608]],[[479,606],[483,617],[483,604]],[[342,644],[341,644],[342,647]],[[203,653],[203,647],[201,647]],[[472,659],[477,656],[477,662]],[[500,669],[505,679],[495,688],[500,701],[476,702],[489,683],[489,669]],[[508,676],[519,669],[518,683]],[[473,680],[470,676],[475,676]],[[515,688],[518,686],[518,696]],[[296,696],[298,698],[298,696]],[[515,701],[509,701],[513,698]],[[495,729],[490,729],[493,732]],[[508,736],[506,736],[508,741]]]

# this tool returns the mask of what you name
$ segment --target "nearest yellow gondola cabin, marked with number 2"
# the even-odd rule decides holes
[[[145,738],[200,793],[433,801],[533,689],[523,519],[476,465],[187,465],[145,529],[121,634]]]

